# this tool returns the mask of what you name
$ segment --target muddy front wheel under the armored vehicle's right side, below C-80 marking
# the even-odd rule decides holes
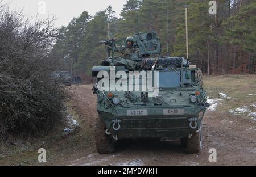
[[[193,133],[192,137],[187,139],[187,152],[188,153],[190,153],[190,154],[200,153],[201,149],[203,148],[202,132],[203,132],[203,127],[201,126],[199,132]]]

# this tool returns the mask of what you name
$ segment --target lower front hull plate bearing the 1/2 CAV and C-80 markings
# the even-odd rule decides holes
[[[189,119],[199,117],[199,115],[189,113],[193,109],[195,107],[185,105],[157,108],[140,106],[139,109],[138,107],[123,107],[118,111],[119,115],[110,115],[102,111],[98,113],[106,127],[110,127],[113,119],[121,120],[121,128],[116,133],[118,139],[161,138],[162,141],[179,141],[191,132]],[[197,114],[200,114],[202,118],[204,113],[205,109]],[[198,119],[197,124],[201,124],[201,119]],[[115,133],[112,127],[109,130],[112,134]]]

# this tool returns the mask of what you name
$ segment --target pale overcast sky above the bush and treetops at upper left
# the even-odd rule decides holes
[[[55,15],[58,18],[55,26],[60,27],[67,26],[82,11],[88,11],[93,16],[96,12],[105,10],[109,5],[116,12],[115,16],[119,17],[126,0],[3,0],[3,2],[9,3],[11,10],[23,9],[24,15],[36,16],[39,12],[40,19]]]

